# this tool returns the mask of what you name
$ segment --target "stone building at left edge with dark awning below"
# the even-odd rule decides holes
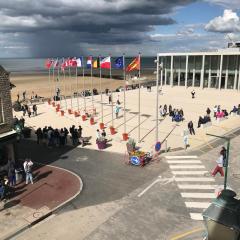
[[[16,161],[16,132],[12,128],[13,114],[9,73],[0,66],[0,166]]]

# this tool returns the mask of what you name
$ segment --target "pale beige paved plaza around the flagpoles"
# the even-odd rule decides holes
[[[189,135],[190,150],[198,148],[199,146],[207,144],[212,140],[212,137],[206,135],[206,133],[224,135],[232,129],[240,127],[240,121],[238,116],[229,116],[228,119],[221,122],[217,122],[213,118],[213,111],[211,113],[212,126],[207,128],[197,128],[197,121],[199,116],[206,114],[206,109],[209,107],[211,110],[214,105],[221,105],[221,108],[230,111],[234,105],[238,105],[238,93],[235,91],[224,91],[214,89],[196,90],[196,98],[191,98],[191,90],[184,87],[171,88],[164,87],[162,94],[159,95],[159,104],[171,104],[173,108],[184,111],[183,122],[178,124],[171,121],[170,117],[160,118],[159,120],[159,140],[163,142],[162,149],[170,148],[170,151],[177,151],[183,149],[183,131],[187,129],[187,123],[192,120],[196,135]],[[115,102],[119,98],[121,107],[123,108],[123,92],[114,93],[113,101]],[[126,129],[131,138],[138,141],[138,89],[126,91]],[[148,92],[146,88],[141,89],[141,117],[140,117],[140,143],[138,145],[144,151],[152,151],[155,144],[155,125],[156,125],[156,88],[152,88],[152,92]],[[84,101],[82,98],[68,99],[67,101],[61,101],[61,109],[65,111],[64,116],[60,116],[60,113],[56,113],[55,108],[47,103],[38,105],[37,117],[25,117],[26,124],[36,129],[37,127],[52,126],[53,128],[70,127],[71,125],[81,125],[83,127],[83,136],[91,136],[91,145],[86,146],[90,149],[97,149],[95,143],[96,130],[99,128],[101,122],[101,102],[100,96],[94,96],[93,102],[94,108],[96,108],[97,116],[95,117],[95,125],[90,125],[89,119],[82,121],[81,117],[74,117],[73,114],[68,114],[67,109],[80,110],[80,114],[83,114]],[[87,111],[92,109],[91,97],[86,98]],[[18,117],[22,113],[16,113]],[[103,122],[106,127],[107,138],[109,140],[108,148],[105,151],[125,153],[126,142],[122,140],[122,133],[124,132],[123,124],[123,111],[120,111],[119,118],[116,119],[113,113],[112,121],[112,106],[108,104],[108,97],[103,95]],[[113,125],[116,128],[117,133],[115,135],[110,134],[109,127]],[[166,139],[167,138],[167,139]]]

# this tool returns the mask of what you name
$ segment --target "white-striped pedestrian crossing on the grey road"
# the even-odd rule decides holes
[[[215,179],[205,176],[208,171],[198,156],[166,156],[165,158],[191,219],[203,220],[202,212],[216,198]]]

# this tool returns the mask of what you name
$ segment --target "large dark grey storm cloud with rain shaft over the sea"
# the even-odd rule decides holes
[[[82,43],[130,44],[174,24],[167,15],[195,0],[0,0],[0,32],[22,33],[36,55],[65,55]]]

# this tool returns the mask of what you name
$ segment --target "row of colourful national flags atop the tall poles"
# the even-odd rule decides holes
[[[113,67],[116,69],[125,69],[125,62],[124,57],[118,57],[114,61]],[[93,59],[92,56],[89,56],[87,58],[86,62],[87,68],[103,68],[103,69],[111,69],[111,57],[105,57],[101,59],[100,57],[98,59]],[[50,68],[59,68],[61,67],[61,70],[64,71],[67,67],[84,67],[83,65],[83,57],[79,58],[67,58],[66,60],[63,59],[47,59],[45,62],[45,67],[50,70]],[[140,56],[133,59],[133,61],[126,67],[125,69],[127,72],[133,71],[133,70],[140,70]]]

